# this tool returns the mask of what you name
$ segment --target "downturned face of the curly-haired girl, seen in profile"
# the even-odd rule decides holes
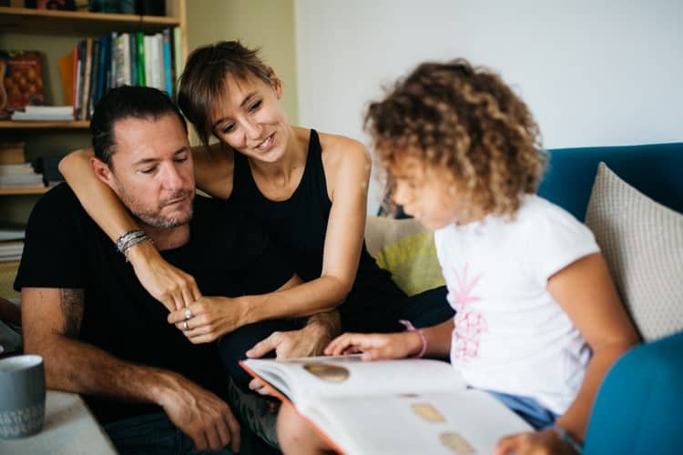
[[[392,178],[396,185],[393,201],[425,227],[433,230],[473,221],[466,215],[467,202],[448,169],[405,157],[392,170]]]

